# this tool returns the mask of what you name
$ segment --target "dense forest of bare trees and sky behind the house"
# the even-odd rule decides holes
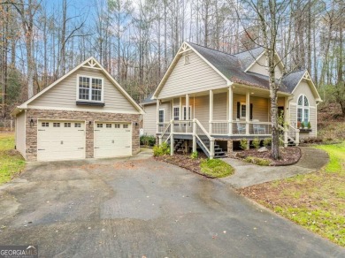
[[[265,46],[260,8],[272,2],[0,0],[1,116],[88,57],[140,102],[184,41],[229,54]],[[273,43],[285,72],[308,69],[324,101],[345,113],[344,2],[274,3]]]

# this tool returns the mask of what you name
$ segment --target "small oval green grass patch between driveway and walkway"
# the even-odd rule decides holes
[[[205,159],[200,163],[201,171],[213,178],[224,178],[234,174],[234,168],[220,159]]]

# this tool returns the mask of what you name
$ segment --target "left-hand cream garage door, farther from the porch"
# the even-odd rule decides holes
[[[38,161],[85,158],[84,122],[39,120],[37,127]]]

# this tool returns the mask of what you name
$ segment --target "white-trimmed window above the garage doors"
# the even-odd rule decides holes
[[[79,76],[78,100],[103,102],[103,79]]]

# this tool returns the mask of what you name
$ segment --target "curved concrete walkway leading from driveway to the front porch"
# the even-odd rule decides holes
[[[234,167],[235,172],[233,176],[219,178],[219,180],[234,188],[242,188],[317,171],[328,163],[329,157],[321,149],[302,147],[301,150],[301,159],[298,163],[289,166],[258,166],[234,158],[224,158],[226,163]]]

